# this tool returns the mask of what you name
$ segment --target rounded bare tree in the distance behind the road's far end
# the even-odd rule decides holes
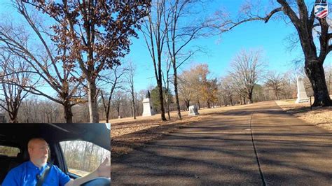
[[[237,92],[244,96],[244,103],[245,98],[252,103],[254,86],[263,71],[260,53],[259,50],[250,52],[242,50],[230,64],[230,76],[234,80]]]

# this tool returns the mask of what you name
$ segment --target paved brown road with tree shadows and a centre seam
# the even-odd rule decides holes
[[[274,101],[216,113],[112,160],[112,185],[332,185],[332,134]]]

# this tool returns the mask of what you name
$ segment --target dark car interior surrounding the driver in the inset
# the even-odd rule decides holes
[[[20,149],[16,157],[0,155],[0,185],[8,171],[27,162],[27,142],[30,138],[44,138],[50,146],[48,162],[57,165],[64,173],[67,165],[60,148],[60,141],[83,140],[110,149],[110,129],[105,124],[0,124],[0,146]],[[105,138],[109,140],[105,140]],[[68,173],[71,178],[78,176]]]

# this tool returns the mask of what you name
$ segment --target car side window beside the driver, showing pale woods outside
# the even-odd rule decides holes
[[[106,157],[111,157],[109,150],[87,141],[62,141],[60,145],[68,171],[78,176],[95,171]]]

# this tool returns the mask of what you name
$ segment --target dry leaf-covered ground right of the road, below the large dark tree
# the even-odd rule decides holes
[[[295,103],[296,99],[275,101],[278,106],[300,120],[332,131],[332,107],[312,108],[310,103]]]

